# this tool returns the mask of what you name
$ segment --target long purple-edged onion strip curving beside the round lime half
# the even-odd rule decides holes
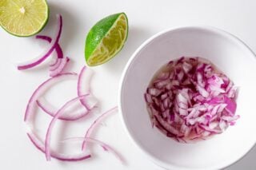
[[[62,15],[57,15],[58,18],[58,33],[56,35],[56,37],[54,38],[54,41],[52,41],[50,43],[50,49],[46,50],[46,53],[42,56],[36,57],[31,61],[27,61],[26,63],[23,64],[19,64],[18,65],[18,69],[22,70],[22,69],[30,69],[33,68],[36,65],[39,65],[42,63],[42,61],[45,61],[47,57],[50,56],[50,54],[54,51],[56,45],[58,44],[59,38],[61,36],[62,33]]]

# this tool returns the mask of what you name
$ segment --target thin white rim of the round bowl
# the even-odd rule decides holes
[[[160,166],[162,168],[170,168],[170,169],[177,169],[178,168],[178,169],[182,169],[182,170],[191,169],[191,168],[186,168],[186,167],[180,167],[180,166],[177,166],[177,165],[174,165],[174,164],[167,164],[166,162],[164,162],[162,160],[159,160],[155,156],[151,155],[150,152],[148,152],[145,148],[143,148],[142,144],[140,144],[138,142],[138,140],[134,139],[134,137],[132,136],[132,133],[130,132],[129,127],[126,125],[125,117],[124,117],[124,114],[123,114],[123,111],[122,111],[122,88],[123,88],[123,83],[124,83],[124,80],[126,78],[126,73],[130,69],[130,65],[132,64],[134,59],[138,56],[138,53],[140,53],[140,51],[142,49],[144,49],[146,47],[146,45],[150,44],[150,42],[154,41],[155,38],[158,38],[158,37],[162,36],[163,34],[167,34],[169,32],[174,32],[176,30],[190,30],[190,29],[207,30],[207,31],[210,31],[210,32],[215,33],[215,34],[220,34],[223,37],[230,39],[232,42],[235,42],[236,44],[241,45],[245,50],[247,50],[248,53],[251,54],[250,56],[254,57],[254,59],[256,61],[256,54],[254,53],[254,51],[252,49],[250,49],[250,47],[248,45],[246,45],[245,42],[242,42],[242,40],[240,38],[236,37],[234,34],[230,34],[226,30],[222,30],[222,29],[219,29],[219,28],[214,27],[214,26],[177,26],[177,27],[169,28],[169,29],[160,31],[157,34],[154,34],[153,36],[146,39],[145,42],[143,42],[141,45],[138,46],[138,49],[136,49],[134,51],[134,53],[131,55],[130,59],[126,63],[125,68],[122,71],[122,76],[121,76],[119,86],[118,86],[118,108],[121,112],[120,113],[120,118],[122,120],[122,126],[126,129],[125,130],[126,134],[128,134],[132,143],[136,146],[136,148],[138,148],[138,150],[140,150],[140,152],[142,152],[143,156],[146,156],[146,158],[148,160],[152,160],[154,162],[154,164],[157,164],[158,166]],[[254,144],[252,144],[250,146],[248,151],[246,151],[243,156],[238,157],[233,162],[230,162],[228,164],[221,164],[218,167],[213,167],[213,168],[210,168],[210,169],[216,169],[216,168],[219,169],[219,168],[228,168],[228,167],[230,167],[232,164],[235,164],[239,160],[242,160],[242,158],[244,156],[246,156],[247,153],[250,152],[252,150],[252,148],[255,147],[255,145],[256,145],[256,141],[254,141]],[[193,168],[193,169],[197,169],[197,170],[200,169],[201,170],[201,169],[206,169],[206,168]]]

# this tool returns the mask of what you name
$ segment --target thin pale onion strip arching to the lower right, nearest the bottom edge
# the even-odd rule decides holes
[[[62,142],[68,142],[68,141],[84,141],[86,143],[93,143],[93,144],[99,144],[100,146],[102,146],[102,148],[105,151],[109,151],[112,152],[114,154],[114,156],[116,156],[118,158],[118,160],[120,160],[122,163],[124,163],[124,160],[122,158],[122,156],[120,154],[118,154],[118,152],[116,152],[114,150],[114,148],[110,147],[110,145],[102,142],[101,140],[96,140],[94,138],[91,137],[70,137],[70,138],[66,138],[65,140],[62,140]]]

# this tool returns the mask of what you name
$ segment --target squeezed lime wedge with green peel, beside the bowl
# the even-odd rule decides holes
[[[123,47],[128,34],[126,14],[112,14],[97,22],[86,37],[87,65],[101,65],[113,58]]]

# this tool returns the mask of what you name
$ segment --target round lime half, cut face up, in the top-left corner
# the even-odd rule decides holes
[[[48,21],[46,0],[0,0],[0,25],[8,33],[28,37]]]

